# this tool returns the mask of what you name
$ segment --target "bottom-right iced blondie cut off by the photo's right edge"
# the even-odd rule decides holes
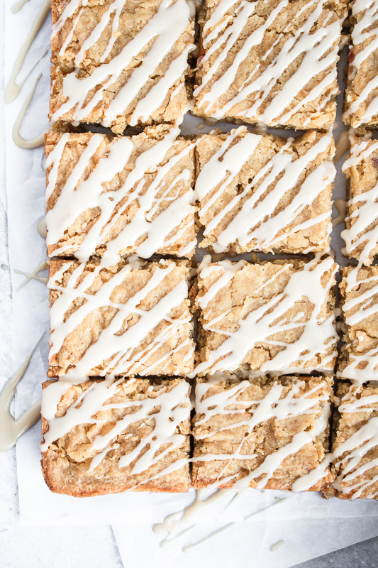
[[[339,383],[333,418],[335,481],[326,497],[378,498],[378,388]]]

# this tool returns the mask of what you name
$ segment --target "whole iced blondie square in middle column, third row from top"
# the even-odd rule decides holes
[[[330,257],[254,264],[205,257],[193,288],[199,313],[195,373],[332,373],[337,269]]]

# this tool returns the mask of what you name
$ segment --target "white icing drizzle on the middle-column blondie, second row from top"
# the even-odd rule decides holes
[[[243,138],[230,146],[235,138],[243,132],[243,127],[232,131],[223,142],[221,148],[211,157],[201,169],[196,180],[196,195],[200,201],[199,218],[209,211],[222,196],[240,173],[245,162],[256,150],[262,136],[254,133],[245,133]],[[237,244],[242,250],[265,251],[282,246],[282,241],[288,236],[328,221],[328,234],[330,232],[330,207],[325,212],[311,216],[310,219],[300,222],[296,219],[311,206],[319,194],[326,190],[335,178],[335,166],[330,160],[324,160],[311,173],[306,175],[296,195],[282,211],[274,214],[287,192],[293,190],[299,182],[299,176],[306,172],[310,163],[318,155],[327,151],[332,141],[330,134],[324,134],[311,148],[294,159],[290,152],[294,138],[289,138],[279,153],[275,154],[255,177],[245,185],[243,192],[235,195],[221,209],[214,214],[211,221],[204,222],[206,228],[204,236],[216,231],[218,224],[223,222],[226,215],[233,212],[230,222],[216,236],[211,246],[216,253],[226,252],[230,246]],[[273,187],[272,187],[273,185]],[[211,196],[211,197],[208,197]],[[207,201],[206,201],[207,198]],[[205,201],[204,201],[205,199]],[[238,208],[240,208],[238,210]],[[293,226],[294,222],[294,226]],[[308,246],[306,252],[318,250],[318,244]],[[329,246],[323,246],[329,250]]]

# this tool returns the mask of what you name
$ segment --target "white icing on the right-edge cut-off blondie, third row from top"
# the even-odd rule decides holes
[[[356,325],[365,318],[378,313],[378,302],[374,303],[374,297],[378,298],[378,276],[368,275],[365,280],[358,278],[360,273],[361,264],[353,268],[346,276],[347,288],[346,291],[352,292],[357,290],[358,286],[363,283],[369,283],[369,288],[365,292],[358,293],[354,298],[350,298],[343,304],[343,313],[345,324],[347,326]],[[369,269],[367,268],[367,271]],[[358,309],[354,313],[348,314],[350,310]],[[348,345],[345,346],[348,350]],[[356,352],[357,351],[357,352]],[[367,381],[374,381],[377,379],[378,372],[378,345],[361,352],[361,349],[354,349],[352,352],[348,351],[348,364],[341,371],[343,378],[348,378],[358,384]]]

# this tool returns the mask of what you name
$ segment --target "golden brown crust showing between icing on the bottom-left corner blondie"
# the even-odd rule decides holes
[[[72,427],[59,439],[50,442],[48,449],[42,453],[41,463],[45,482],[51,491],[75,497],[104,495],[106,493],[119,493],[128,490],[188,491],[188,463],[178,466],[177,469],[170,473],[164,474],[162,472],[165,468],[174,466],[175,461],[189,457],[189,385],[183,391],[179,391],[187,393],[182,396],[182,400],[179,400],[179,395],[175,395],[177,400],[174,400],[173,404],[173,406],[187,408],[187,411],[184,413],[187,415],[187,418],[177,424],[176,427],[176,433],[182,436],[182,442],[179,447],[172,452],[167,452],[159,459],[158,455],[168,447],[167,444],[171,441],[168,437],[164,441],[160,431],[157,435],[160,436],[159,440],[162,446],[156,448],[157,459],[148,469],[142,469],[142,471],[136,474],[133,473],[135,464],[138,464],[138,460],[146,450],[143,447],[135,459],[127,466],[121,466],[121,462],[119,462],[123,456],[127,457],[129,452],[135,452],[135,447],[138,447],[138,444],[143,442],[143,438],[150,435],[151,430],[153,431],[155,428],[155,413],[157,413],[158,417],[158,413],[160,413],[159,405],[164,404],[160,402],[162,398],[159,397],[164,397],[167,393],[174,391],[174,388],[177,388],[180,381],[187,385],[184,379],[181,378],[167,380],[126,379],[118,386],[115,394],[104,400],[107,410],[101,410],[101,407],[99,407],[99,410],[94,414],[94,417],[99,418],[99,423],[96,424],[92,420],[88,424],[79,424]],[[43,389],[45,390],[45,388],[48,388],[55,382],[48,381],[43,385]],[[70,411],[72,404],[76,404],[79,396],[84,396],[82,400],[86,400],[85,391],[88,389],[90,391],[93,386],[96,386],[96,383],[100,382],[99,380],[90,380],[86,383],[71,386],[60,398],[55,416],[64,417]],[[92,471],[89,471],[91,460],[99,453],[99,450],[92,445],[96,436],[106,435],[107,432],[115,427],[117,420],[119,422],[125,419],[126,415],[132,416],[133,413],[138,411],[138,408],[141,408],[140,406],[138,407],[138,402],[143,403],[143,400],[151,398],[156,400],[155,410],[148,412],[142,420],[139,419],[135,422],[128,420],[126,427],[123,430],[118,430],[111,439],[111,447],[109,447],[106,455]],[[135,405],[130,406],[130,401],[135,402]],[[118,406],[111,408],[113,403]],[[128,406],[127,403],[129,403]],[[50,422],[43,417],[43,437],[49,431],[49,424]]]

